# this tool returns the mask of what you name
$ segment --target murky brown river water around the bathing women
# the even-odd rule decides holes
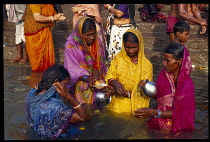
[[[158,72],[154,73],[154,80]],[[4,139],[39,140],[29,127],[25,116],[25,99],[35,82],[40,81],[42,73],[33,73],[30,65],[11,64],[4,60]],[[193,69],[191,77],[195,84],[196,113],[195,131],[183,133],[172,139],[208,139],[208,70]],[[155,107],[151,100],[150,107]],[[146,129],[146,119],[139,120],[127,114],[94,111],[89,122],[79,124],[83,134],[63,138],[65,140],[115,140],[115,139],[166,139],[153,130]],[[61,139],[61,138],[60,138]]]

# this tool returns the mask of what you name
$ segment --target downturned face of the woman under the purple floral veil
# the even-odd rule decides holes
[[[87,32],[82,34],[82,37],[85,40],[86,44],[90,46],[95,41],[96,30],[95,29],[88,30]]]

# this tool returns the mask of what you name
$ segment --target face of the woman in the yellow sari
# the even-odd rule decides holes
[[[139,43],[125,42],[124,43],[125,52],[130,57],[138,57],[139,53]]]

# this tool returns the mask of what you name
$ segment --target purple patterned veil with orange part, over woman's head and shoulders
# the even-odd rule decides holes
[[[92,43],[91,51],[83,39],[82,28],[85,20],[88,18],[92,19],[90,17],[82,17],[78,20],[65,44],[64,67],[71,76],[72,85],[77,83],[80,76],[92,75],[95,62],[99,68],[101,79],[104,79],[107,71],[105,65],[105,48],[97,32],[95,41]]]

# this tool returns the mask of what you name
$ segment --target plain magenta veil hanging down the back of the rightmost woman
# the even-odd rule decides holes
[[[177,89],[174,96],[174,109],[172,110],[172,131],[182,129],[194,130],[195,119],[195,94],[194,83],[190,77],[192,63],[187,48],[184,46],[182,65],[177,81]]]

